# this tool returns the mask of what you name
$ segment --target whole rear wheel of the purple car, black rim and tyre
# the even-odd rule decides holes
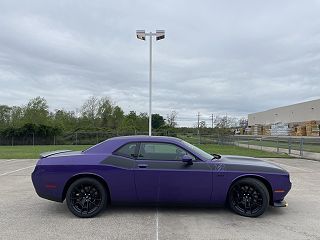
[[[74,181],[67,191],[66,199],[69,210],[77,217],[83,218],[97,215],[107,202],[103,185],[88,177]]]

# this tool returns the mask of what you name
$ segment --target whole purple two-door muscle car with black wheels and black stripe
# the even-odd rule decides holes
[[[109,204],[224,205],[247,217],[287,206],[289,173],[259,159],[209,154],[172,137],[116,137],[85,151],[41,155],[32,182],[78,217]]]

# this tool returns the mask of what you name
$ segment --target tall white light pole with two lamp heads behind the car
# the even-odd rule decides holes
[[[157,30],[154,32],[146,33],[145,30],[136,31],[137,38],[146,40],[146,36],[150,37],[150,62],[149,62],[149,136],[151,136],[152,129],[152,37],[155,36],[156,40],[164,39],[164,30]]]

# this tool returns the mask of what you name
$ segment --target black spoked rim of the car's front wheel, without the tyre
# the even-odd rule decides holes
[[[233,206],[243,214],[255,214],[262,209],[263,197],[261,191],[254,185],[237,184],[231,191]]]

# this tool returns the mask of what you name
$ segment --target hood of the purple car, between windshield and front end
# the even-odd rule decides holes
[[[258,158],[223,155],[220,159],[216,160],[216,162],[225,165],[225,168],[230,171],[272,172],[288,174],[288,172],[280,166],[263,161]]]

